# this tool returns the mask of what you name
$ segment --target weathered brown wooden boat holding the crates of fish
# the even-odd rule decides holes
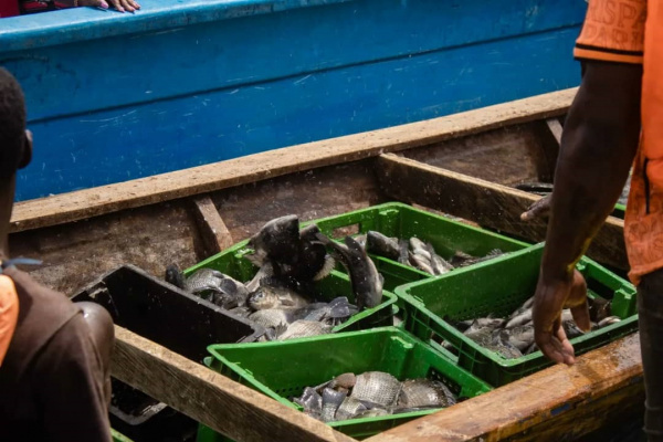
[[[255,232],[399,200],[535,242],[522,181],[552,178],[575,90],[448,117],[270,150],[192,169],[19,202],[10,250],[43,259],[32,274],[73,293],[126,262],[161,275]],[[625,269],[623,221],[609,218],[589,255]],[[116,327],[113,375],[238,441],[350,441],[206,367]],[[173,387],[173,386],[177,386]],[[204,399],[202,399],[204,398]],[[638,335],[371,441],[575,440],[643,403]]]

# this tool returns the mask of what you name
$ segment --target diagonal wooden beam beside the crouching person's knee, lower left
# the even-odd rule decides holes
[[[115,338],[115,378],[235,441],[354,441],[123,327]]]

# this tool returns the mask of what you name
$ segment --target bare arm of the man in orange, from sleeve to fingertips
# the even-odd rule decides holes
[[[642,66],[588,61],[569,109],[550,198],[546,249],[536,288],[536,343],[557,362],[573,362],[573,349],[559,326],[572,307],[589,326],[585,282],[573,273],[627,181],[640,136]]]

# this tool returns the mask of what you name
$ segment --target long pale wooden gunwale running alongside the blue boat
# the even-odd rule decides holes
[[[425,146],[567,112],[576,88],[387,129],[265,151],[124,183],[19,202],[11,231],[38,229],[123,209],[211,192],[311,168]]]

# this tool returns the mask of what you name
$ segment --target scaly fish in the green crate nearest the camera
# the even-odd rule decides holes
[[[348,372],[317,387],[307,387],[293,401],[323,422],[407,413],[451,407],[456,397],[442,382],[409,379],[403,382],[382,371]]]

